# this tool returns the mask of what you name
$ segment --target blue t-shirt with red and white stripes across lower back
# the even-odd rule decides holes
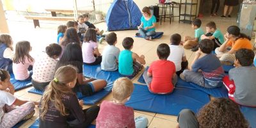
[[[212,87],[221,86],[224,70],[216,55],[207,54],[196,60],[192,65],[192,71],[198,72],[199,69],[202,70],[205,83]]]

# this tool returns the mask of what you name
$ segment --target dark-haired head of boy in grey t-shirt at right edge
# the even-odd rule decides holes
[[[235,65],[250,66],[253,63],[254,52],[251,49],[239,49],[236,51]]]

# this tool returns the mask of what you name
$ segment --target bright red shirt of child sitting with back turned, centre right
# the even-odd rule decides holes
[[[150,90],[154,93],[169,93],[173,90],[172,77],[175,74],[175,65],[172,61],[157,60],[148,68],[152,74]]]

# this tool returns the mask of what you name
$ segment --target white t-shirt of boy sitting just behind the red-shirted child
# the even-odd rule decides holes
[[[175,64],[176,72],[181,70],[182,57],[186,56],[184,48],[181,45],[169,45],[170,56],[167,60],[172,61]]]

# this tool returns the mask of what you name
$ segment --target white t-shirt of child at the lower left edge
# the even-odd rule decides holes
[[[16,98],[11,93],[0,90],[0,122],[4,115],[4,105],[7,104],[8,106],[11,106],[15,100]]]

